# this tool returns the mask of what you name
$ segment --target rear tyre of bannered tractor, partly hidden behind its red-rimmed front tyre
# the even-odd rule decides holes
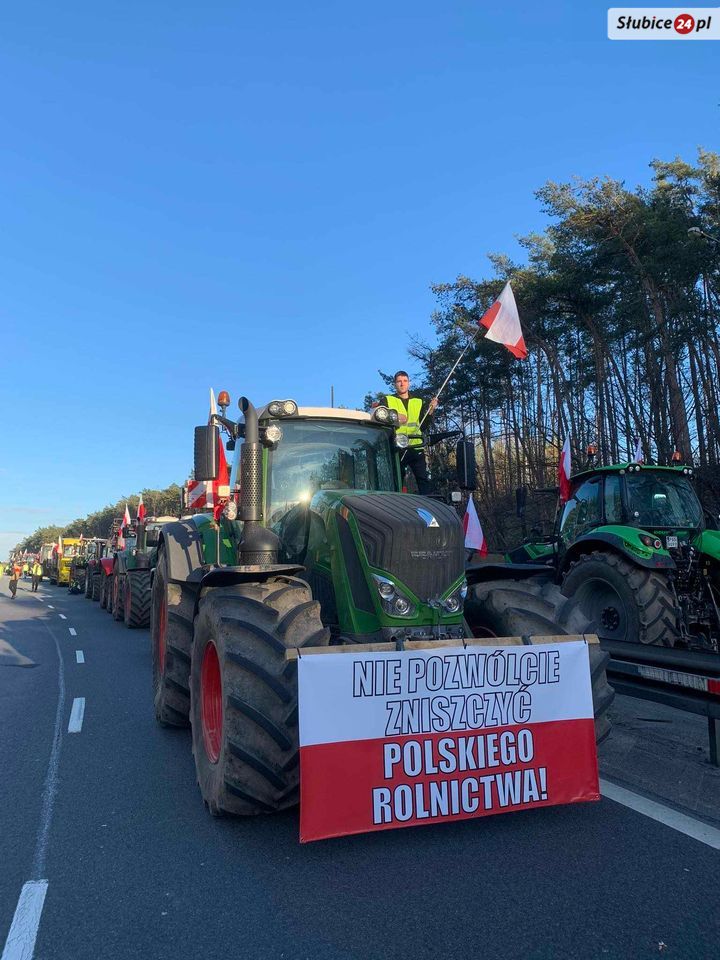
[[[168,580],[165,551],[158,556],[150,597],[155,718],[163,727],[190,723],[190,654],[194,595]]]

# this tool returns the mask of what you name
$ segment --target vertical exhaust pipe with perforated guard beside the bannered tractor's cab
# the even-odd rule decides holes
[[[263,483],[262,457],[257,410],[247,397],[238,405],[245,416],[245,440],[240,451],[240,519],[243,538],[240,542],[241,564],[269,566],[277,563],[280,541],[277,534],[262,525]]]

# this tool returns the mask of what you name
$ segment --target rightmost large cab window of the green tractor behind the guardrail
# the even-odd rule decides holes
[[[625,477],[628,520],[637,527],[697,528],[702,507],[687,477],[642,473]]]

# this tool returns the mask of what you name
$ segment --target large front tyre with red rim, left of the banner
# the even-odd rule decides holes
[[[221,587],[200,604],[190,702],[193,754],[214,816],[274,813],[299,800],[294,647],[330,633],[308,585],[292,577]]]

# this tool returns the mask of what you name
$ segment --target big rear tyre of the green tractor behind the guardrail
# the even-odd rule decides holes
[[[562,592],[574,599],[601,640],[672,647],[678,611],[666,574],[638,567],[616,553],[583,554],[565,574]]]

